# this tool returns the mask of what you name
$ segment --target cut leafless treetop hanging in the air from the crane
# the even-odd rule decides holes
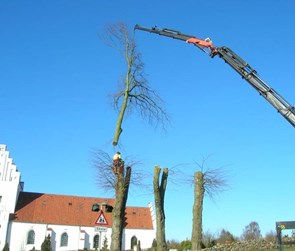
[[[141,54],[137,51],[134,32],[131,33],[124,23],[108,25],[104,34],[106,43],[117,49],[125,59],[126,74],[112,94],[113,104],[118,111],[113,145],[118,145],[122,133],[123,119],[127,111],[137,111],[150,124],[166,127],[169,116],[164,102],[149,85],[144,74]]]

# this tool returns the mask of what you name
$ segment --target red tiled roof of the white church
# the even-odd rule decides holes
[[[93,212],[93,204],[114,205],[114,199],[21,192],[12,221],[71,226],[97,226],[101,211]],[[112,226],[112,213],[103,212]],[[126,228],[153,229],[148,207],[127,207]]]

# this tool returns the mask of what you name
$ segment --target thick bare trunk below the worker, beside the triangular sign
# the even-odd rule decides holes
[[[128,190],[131,178],[131,167],[126,168],[126,174],[124,177],[124,172],[119,172],[117,174],[116,182],[116,198],[115,205],[112,212],[112,242],[111,251],[121,251],[122,250],[122,236],[123,229],[125,227],[125,210],[126,202],[128,198]]]

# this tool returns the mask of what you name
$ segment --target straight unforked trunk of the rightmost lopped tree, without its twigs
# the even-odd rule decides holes
[[[193,206],[192,251],[201,250],[202,244],[202,213],[205,194],[204,174],[195,173],[195,191]]]

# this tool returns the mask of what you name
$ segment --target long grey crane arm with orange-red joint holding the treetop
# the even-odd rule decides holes
[[[134,29],[155,33],[193,44],[208,54],[211,58],[219,56],[229,64],[243,79],[253,86],[290,124],[295,127],[295,109],[274,89],[269,87],[250,65],[226,46],[215,47],[209,38],[199,39],[192,35],[186,35],[176,30],[158,29],[157,27],[145,28],[135,25]]]

